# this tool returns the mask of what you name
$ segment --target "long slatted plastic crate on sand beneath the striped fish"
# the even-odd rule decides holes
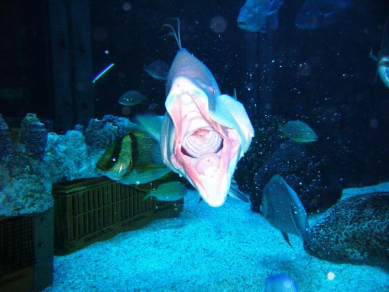
[[[146,195],[141,189],[163,182],[135,187],[101,177],[53,184],[54,254],[69,254],[119,232],[141,228],[153,219],[177,216],[183,199],[141,201]]]

